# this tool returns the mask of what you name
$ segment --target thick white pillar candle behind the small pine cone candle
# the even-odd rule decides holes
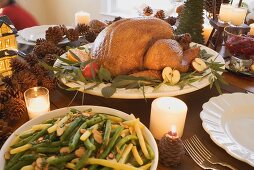
[[[172,127],[176,128],[179,137],[183,135],[186,104],[174,97],[161,97],[152,102],[150,130],[153,136],[160,140]]]

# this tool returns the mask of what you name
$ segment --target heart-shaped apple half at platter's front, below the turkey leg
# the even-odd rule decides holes
[[[165,67],[162,70],[162,78],[165,82],[175,85],[180,81],[181,75],[178,70],[173,70],[171,67]]]

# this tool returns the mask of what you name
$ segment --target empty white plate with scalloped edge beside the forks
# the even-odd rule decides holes
[[[211,139],[231,156],[254,166],[254,94],[211,98],[200,113]]]

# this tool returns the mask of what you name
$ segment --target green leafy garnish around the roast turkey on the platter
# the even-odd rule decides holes
[[[224,64],[215,61],[218,56],[215,59],[211,59],[213,55],[207,53],[204,49],[200,51],[199,57],[206,61],[206,64],[208,66],[207,70],[202,73],[199,73],[197,71],[182,73],[181,79],[176,84],[176,86],[179,86],[180,89],[183,89],[185,86],[194,86],[194,82],[201,81],[205,77],[209,76],[210,87],[215,85],[218,92],[221,93],[220,85],[227,84],[221,76],[221,73],[225,71],[223,69]],[[69,91],[81,90],[82,83],[91,84],[90,87],[82,89],[84,91],[91,90],[100,85],[101,83],[105,83],[106,86],[101,89],[101,93],[106,98],[111,97],[118,88],[140,89],[142,90],[145,98],[145,86],[153,87],[154,91],[159,89],[163,84],[170,86],[170,84],[166,82],[162,82],[161,80],[152,79],[149,77],[134,77],[131,75],[119,75],[116,77],[112,77],[110,72],[104,67],[100,67],[94,78],[86,78],[82,74],[81,70],[86,65],[95,62],[94,59],[88,60],[86,62],[72,62],[65,59],[64,57],[57,56],[57,58],[62,61],[62,64],[58,67],[49,66],[44,62],[40,63],[46,69],[54,71],[55,76],[58,79],[64,81],[64,84],[68,82],[77,84],[77,87],[67,88],[67,90]],[[81,84],[78,82],[81,82]]]

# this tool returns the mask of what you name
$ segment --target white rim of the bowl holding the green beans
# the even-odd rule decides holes
[[[75,109],[78,109],[78,110],[81,110],[81,111],[91,108],[94,112],[97,112],[97,113],[105,113],[105,114],[115,115],[115,116],[119,116],[119,117],[121,117],[125,120],[133,119],[133,116],[130,116],[127,113],[124,113],[124,112],[116,110],[116,109],[108,108],[108,107],[86,105],[86,106],[72,106],[70,108],[75,108]],[[33,125],[40,124],[43,121],[46,121],[48,119],[52,119],[52,118],[56,118],[56,117],[62,117],[64,115],[66,115],[66,113],[69,112],[70,108],[66,107],[66,108],[53,110],[51,112],[48,112],[44,115],[41,115],[37,118],[34,118],[34,119],[26,122],[20,128],[18,128],[7,139],[7,141],[4,143],[4,145],[3,145],[3,147],[0,151],[0,170],[4,170],[4,166],[3,166],[5,164],[4,153],[9,150],[9,146],[11,145],[11,142],[14,140],[16,135],[30,129]],[[144,138],[151,145],[151,147],[154,151],[154,154],[155,154],[155,157],[154,157],[154,160],[152,161],[152,166],[151,166],[150,170],[156,170],[157,166],[158,166],[158,160],[159,160],[158,147],[157,147],[156,141],[155,141],[153,135],[151,134],[151,132],[145,126],[143,128],[143,134],[144,134]]]

